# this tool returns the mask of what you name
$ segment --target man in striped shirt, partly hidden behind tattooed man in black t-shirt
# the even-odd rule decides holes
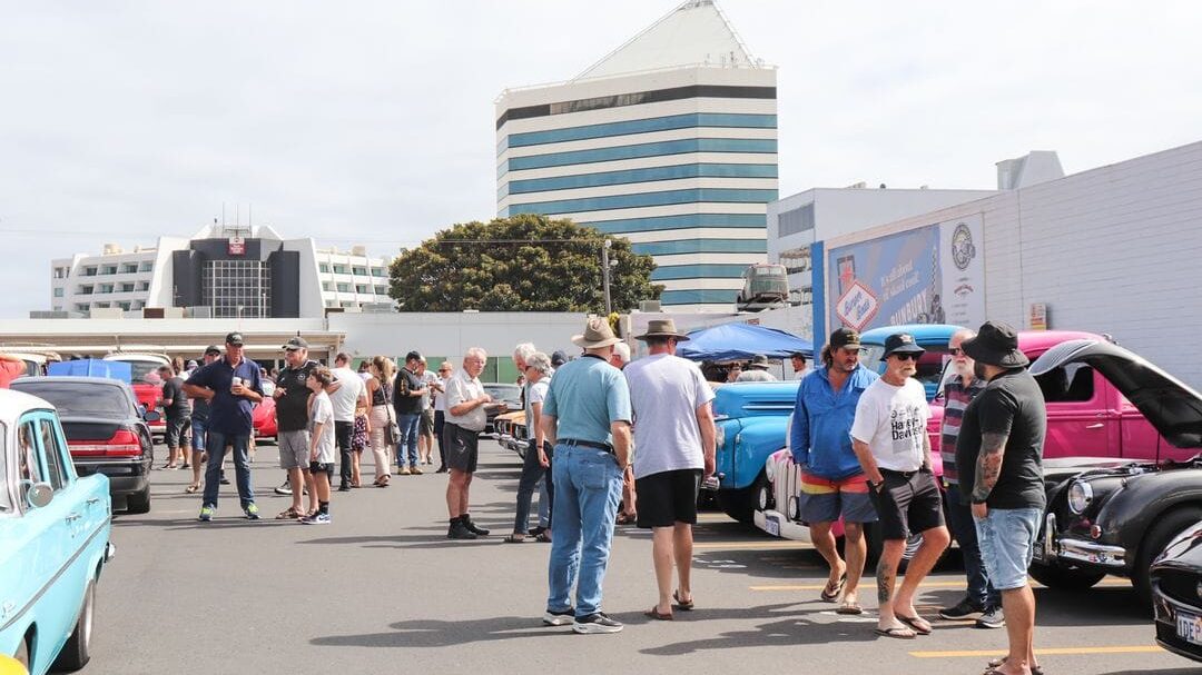
[[[959,490],[959,467],[956,466],[956,441],[960,435],[960,420],[969,401],[984,390],[986,381],[972,372],[972,359],[964,353],[960,344],[976,334],[968,329],[957,330],[947,346],[952,352],[952,369],[956,377],[944,386],[944,425],[940,432],[939,454],[944,459],[944,482],[947,485],[947,524],[952,536],[960,544],[964,556],[964,573],[969,589],[959,603],[939,610],[944,619],[975,619],[978,628],[1001,628],[1005,620],[1001,616],[1001,596],[989,584],[984,565],[981,562],[981,549],[977,545],[976,526],[972,524],[972,510],[963,500]],[[968,467],[969,479],[974,467]]]

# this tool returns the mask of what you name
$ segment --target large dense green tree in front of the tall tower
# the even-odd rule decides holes
[[[523,214],[454,225],[392,262],[388,294],[400,311],[605,311],[601,247],[607,237],[570,220]],[[664,291],[650,256],[608,237],[613,309]]]

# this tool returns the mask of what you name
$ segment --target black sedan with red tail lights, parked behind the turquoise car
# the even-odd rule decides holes
[[[59,411],[76,473],[108,477],[114,507],[150,510],[154,444],[147,422],[159,413],[138,404],[133,389],[106,377],[22,377],[12,388],[44,399]]]

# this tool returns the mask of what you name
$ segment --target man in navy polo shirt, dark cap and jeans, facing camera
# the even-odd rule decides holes
[[[204,500],[200,519],[208,522],[216,513],[221,460],[225,459],[226,446],[232,446],[242,508],[246,512],[246,518],[258,520],[246,449],[250,435],[255,432],[251,407],[263,400],[262,371],[258,364],[244,358],[242,333],[226,335],[225,357],[194,372],[184,384],[184,392],[210,405],[209,460],[204,470]]]

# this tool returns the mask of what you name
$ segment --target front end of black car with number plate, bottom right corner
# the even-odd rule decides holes
[[[1202,520],[1165,548],[1152,566],[1156,641],[1202,661]]]

